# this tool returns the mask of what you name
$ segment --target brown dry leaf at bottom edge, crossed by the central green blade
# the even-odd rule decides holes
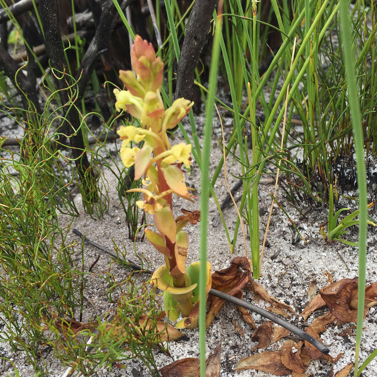
[[[217,346],[213,354],[205,362],[205,377],[220,377],[221,346]],[[185,357],[166,365],[160,370],[162,377],[199,377],[200,359]]]

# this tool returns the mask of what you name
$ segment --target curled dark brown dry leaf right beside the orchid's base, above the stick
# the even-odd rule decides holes
[[[251,278],[250,263],[246,257],[236,257],[230,262],[230,267],[212,274],[212,288],[234,296],[245,287]],[[213,318],[221,309],[224,300],[208,295],[210,308],[208,310],[206,325],[212,323]]]

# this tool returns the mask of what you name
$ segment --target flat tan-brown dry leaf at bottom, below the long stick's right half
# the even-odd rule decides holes
[[[288,369],[282,363],[281,356],[282,353],[280,351],[261,352],[239,360],[234,366],[234,370],[243,371],[245,369],[257,369],[258,371],[268,372],[276,376],[291,374],[291,369]]]

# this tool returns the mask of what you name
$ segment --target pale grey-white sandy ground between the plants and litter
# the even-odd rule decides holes
[[[176,139],[172,143],[178,143],[179,139]],[[216,137],[213,138],[213,148],[211,152],[211,174],[221,158],[222,151],[218,146]],[[117,157],[116,157],[117,159]],[[233,175],[239,175],[239,164],[234,161],[231,156],[227,158],[227,174],[229,184],[232,187],[236,182],[236,178]],[[127,256],[132,259],[136,259],[133,251],[133,244],[128,239],[128,229],[126,225],[126,215],[120,206],[118,194],[116,192],[115,177],[109,170],[103,171],[104,177],[109,182],[109,198],[110,206],[109,212],[98,220],[93,220],[84,213],[83,206],[81,204],[81,196],[77,195],[75,203],[80,212],[80,216],[75,218],[72,227],[77,228],[81,232],[85,233],[92,241],[97,242],[104,247],[113,250],[113,242],[121,246],[124,244],[127,250]],[[200,190],[200,170],[198,169],[195,161],[193,162],[192,171],[190,175],[187,175],[187,183],[191,186],[195,186]],[[265,226],[268,218],[268,211],[271,205],[270,196],[268,191],[273,191],[273,184],[261,183],[259,186],[259,199],[260,199],[260,231],[261,241],[263,239]],[[221,174],[215,186],[215,192],[219,200],[222,201],[226,194],[227,189],[224,181],[224,174]],[[200,193],[199,193],[200,194]],[[237,196],[237,195],[236,195]],[[294,231],[290,226],[290,222],[282,211],[275,206],[271,219],[270,230],[268,233],[268,246],[265,249],[262,277],[260,283],[268,291],[269,294],[279,298],[282,302],[291,305],[295,310],[295,314],[291,317],[290,321],[301,327],[308,326],[313,322],[314,318],[322,315],[324,310],[319,310],[311,314],[307,321],[304,321],[300,317],[300,313],[303,308],[308,304],[308,286],[313,279],[317,281],[317,288],[320,289],[328,284],[328,278],[326,271],[332,276],[334,281],[342,278],[353,278],[357,276],[357,249],[355,247],[348,247],[343,244],[336,243],[334,245],[327,245],[322,237],[319,235],[318,230],[320,224],[326,221],[327,212],[325,210],[320,211],[308,211],[306,217],[303,218],[293,208],[293,206],[282,198],[282,192],[278,191],[277,198],[280,203],[284,205],[285,210],[291,216],[294,223],[300,227],[302,236],[307,240],[305,244],[302,241],[297,241]],[[343,203],[342,203],[343,204]],[[209,200],[210,214],[208,219],[208,250],[207,259],[212,265],[212,270],[221,270],[229,266],[231,259],[235,256],[244,256],[245,250],[243,247],[242,233],[239,230],[238,243],[235,253],[230,254],[227,239],[225,236],[222,224],[217,228],[212,226],[212,219],[217,213],[216,205],[213,199]],[[348,204],[344,203],[344,207]],[[182,204],[182,199],[175,198],[174,210],[176,215],[180,213],[180,208],[186,208],[189,210],[199,209],[199,199],[195,204],[189,202]],[[302,210],[305,212],[308,208],[302,205]],[[236,222],[236,211],[234,208],[228,208],[225,212],[225,220],[228,230],[233,237],[234,225]],[[66,227],[69,224],[69,218],[66,215],[60,216],[60,224],[62,227]],[[152,221],[152,219],[147,219]],[[199,225],[188,225],[185,230],[189,234],[190,246],[187,258],[187,264],[197,261],[199,259]],[[377,232],[374,228],[368,228],[368,255],[367,255],[367,284],[377,281],[376,266],[377,266],[377,251],[376,241]],[[348,235],[348,239],[356,239],[357,230],[351,231]],[[292,242],[296,240],[295,242]],[[71,231],[67,238],[67,242],[76,243],[74,246],[74,258],[78,265],[81,265],[81,240],[73,234]],[[247,236],[248,244],[248,256],[250,257],[250,239]],[[139,256],[144,256],[150,262],[150,268],[156,268],[163,264],[162,254],[157,253],[154,248],[145,240],[144,242],[136,243],[136,250]],[[271,256],[280,252],[277,257],[271,259]],[[94,248],[90,245],[85,245],[85,267],[89,268],[95,261],[98,254],[101,254],[99,261],[93,268],[92,272],[100,272],[107,270],[110,266],[112,258],[106,254]],[[342,258],[341,258],[341,257]],[[344,261],[342,261],[342,259]],[[349,271],[347,270],[347,267]],[[116,263],[111,264],[111,272],[114,276],[121,280],[128,272],[120,268]],[[112,306],[106,300],[106,283],[96,278],[95,276],[87,277],[87,286],[84,292],[84,296],[88,300],[86,310],[84,312],[84,321],[90,321],[96,315],[101,316],[108,311]],[[253,300],[253,294],[244,291],[245,300]],[[262,307],[267,306],[265,302],[260,300],[257,302]],[[264,322],[264,319],[257,314],[253,314],[253,318],[257,325]],[[233,325],[233,319],[236,324],[239,325],[245,332],[245,337],[236,331]],[[343,357],[334,365],[330,365],[325,360],[312,361],[308,367],[307,373],[312,373],[314,376],[327,376],[332,367],[334,371],[339,371],[346,364],[354,361],[354,348],[355,337],[349,335],[348,337],[339,336],[339,333],[346,328],[349,328],[351,324],[346,323],[344,325],[330,325],[329,328],[323,333],[322,340],[330,349],[331,356],[337,356],[339,352],[343,352]],[[156,351],[156,365],[158,368],[172,363],[173,361],[182,359],[184,357],[198,357],[199,356],[199,343],[198,343],[198,330],[183,330],[184,334],[189,337],[189,340],[184,342],[170,342],[170,354],[172,357],[166,356],[166,354],[158,353]],[[215,319],[207,330],[207,354],[213,352],[213,349],[221,344],[221,377],[270,377],[271,374],[265,372],[259,372],[254,370],[234,372],[233,367],[238,360],[243,357],[250,356],[258,351],[251,351],[251,347],[255,345],[250,340],[253,333],[253,329],[244,322],[238,309],[230,304],[225,305],[220,310],[217,319]],[[282,343],[287,339],[297,339],[290,334],[288,337],[279,340],[277,343],[272,343],[267,349],[261,351],[275,351],[280,350]],[[374,351],[377,347],[377,310],[371,308],[369,314],[364,322],[363,340],[360,353],[361,362]],[[23,352],[12,353],[9,350],[8,345],[2,343],[0,345],[3,351],[3,356],[10,357],[18,368],[21,377],[33,376],[34,372],[31,366],[26,361],[25,354]],[[61,363],[54,359],[52,352],[46,355],[46,365],[49,371],[49,376],[57,377],[61,376],[66,369],[66,366],[62,366]],[[112,376],[112,377],[124,377],[131,376],[132,370],[137,371],[140,376],[150,375],[146,367],[141,360],[130,360],[126,364],[126,369],[119,369],[114,366],[111,371],[107,369],[99,369],[97,376]],[[375,376],[375,370],[377,369],[377,359],[369,364],[365,369],[363,375],[365,377]],[[12,375],[12,368],[9,362],[3,365],[3,371],[1,376]]]

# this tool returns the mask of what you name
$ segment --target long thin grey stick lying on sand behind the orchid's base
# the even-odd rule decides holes
[[[78,231],[77,229],[74,228],[73,232],[75,234],[77,234],[79,237],[83,237],[83,234],[80,231]],[[121,260],[121,258],[119,256],[117,256],[113,251],[110,251],[109,249],[107,249],[103,246],[100,246],[93,241],[90,241],[86,237],[85,237],[85,241],[88,242],[88,244],[93,245],[94,247],[97,247],[100,250],[105,251],[106,253],[108,253],[108,254],[116,257],[116,258],[119,258]],[[131,263],[132,267],[135,268],[136,271],[143,271],[143,272],[146,272],[146,273],[153,274],[153,271],[151,271],[151,270],[143,270],[143,268],[138,266],[138,264],[135,261],[130,261],[129,259],[127,259],[127,261],[129,261]],[[229,294],[215,290],[213,288],[210,289],[209,294],[216,296],[216,297],[219,297],[222,300],[226,300],[226,301],[229,301],[231,303],[234,303],[235,305],[239,305],[241,307],[244,307],[247,310],[251,310],[254,313],[260,314],[262,317],[270,319],[271,321],[273,321],[273,322],[277,323],[278,325],[280,325],[280,326],[286,328],[287,330],[291,331],[291,333],[296,334],[300,338],[307,340],[309,343],[313,344],[314,347],[319,349],[319,351],[321,351],[323,354],[327,355],[330,352],[330,350],[327,347],[325,347],[321,342],[319,342],[319,340],[314,339],[308,333],[305,333],[305,331],[303,331],[302,329],[300,329],[297,326],[293,325],[292,323],[276,316],[275,314],[270,313],[267,310],[259,308],[256,305],[253,305],[253,304],[251,304],[247,301],[238,299],[237,297],[230,296]]]

